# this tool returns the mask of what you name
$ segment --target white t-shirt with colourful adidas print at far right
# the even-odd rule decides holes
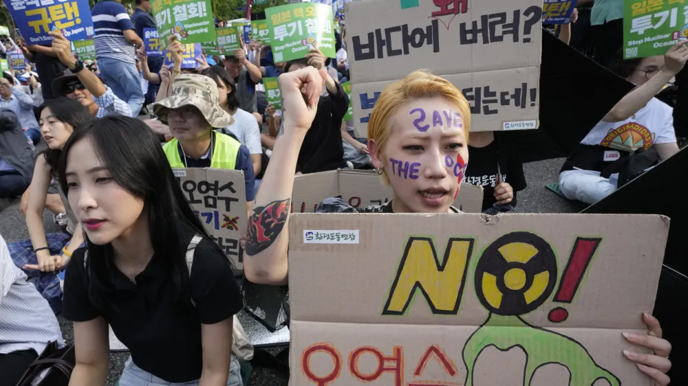
[[[600,145],[605,148],[634,152],[653,144],[676,142],[674,117],[667,104],[652,98],[643,109],[621,122],[599,122],[583,138],[583,145]]]

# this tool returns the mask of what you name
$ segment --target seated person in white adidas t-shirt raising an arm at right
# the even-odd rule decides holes
[[[678,152],[673,109],[654,98],[688,60],[688,40],[664,56],[623,60],[621,51],[609,64],[616,75],[636,85],[574,148],[559,172],[567,198],[594,204],[623,183]],[[641,153],[643,159],[630,162]],[[640,162],[643,161],[643,162]]]

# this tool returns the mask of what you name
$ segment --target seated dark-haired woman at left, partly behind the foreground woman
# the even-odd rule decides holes
[[[37,115],[48,148],[36,158],[28,189],[25,218],[29,238],[12,242],[8,249],[14,264],[24,269],[53,312],[58,314],[62,312],[62,290],[57,273],[67,266],[72,252],[83,242],[83,232],[65,197],[61,197],[67,214],[65,232],[45,234],[43,209],[46,200],[59,201],[58,194],[50,194],[55,197],[49,199],[48,192],[51,181],[57,178],[58,160],[67,139],[93,117],[79,102],[65,97],[45,102]]]

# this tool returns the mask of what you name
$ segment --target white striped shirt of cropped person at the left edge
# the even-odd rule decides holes
[[[0,354],[34,350],[40,355],[51,341],[57,341],[62,347],[64,341],[57,318],[47,300],[14,265],[1,237],[0,265],[3,282],[0,283]]]

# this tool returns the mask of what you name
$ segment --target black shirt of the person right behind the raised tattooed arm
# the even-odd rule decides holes
[[[318,112],[299,151],[297,172],[308,174],[346,168],[341,125],[349,109],[349,97],[341,84],[335,83],[336,93],[320,97]]]

